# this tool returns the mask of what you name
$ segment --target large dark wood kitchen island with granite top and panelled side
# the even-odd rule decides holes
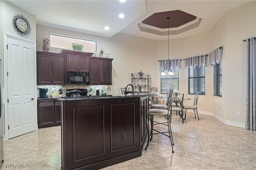
[[[62,169],[100,169],[142,155],[148,97],[60,97]]]

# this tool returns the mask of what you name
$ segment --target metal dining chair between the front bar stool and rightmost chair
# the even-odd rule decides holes
[[[181,117],[182,123],[184,123],[183,119],[183,99],[184,93],[174,93],[172,94],[172,101],[171,101],[171,113],[170,113],[170,122],[172,122],[172,114],[176,114]]]

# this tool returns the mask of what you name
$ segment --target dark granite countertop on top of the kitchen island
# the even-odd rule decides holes
[[[86,99],[113,99],[122,97],[148,97],[158,95],[159,93],[128,93],[127,95],[93,95],[93,96],[80,96],[80,97],[58,97],[60,101],[71,101],[71,100],[86,100]]]

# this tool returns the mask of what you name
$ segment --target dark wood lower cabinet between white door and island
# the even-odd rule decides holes
[[[38,128],[60,125],[60,101],[43,99],[37,101]]]

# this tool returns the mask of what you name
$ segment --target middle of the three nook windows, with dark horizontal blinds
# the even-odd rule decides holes
[[[188,94],[205,95],[205,65],[188,68]]]

